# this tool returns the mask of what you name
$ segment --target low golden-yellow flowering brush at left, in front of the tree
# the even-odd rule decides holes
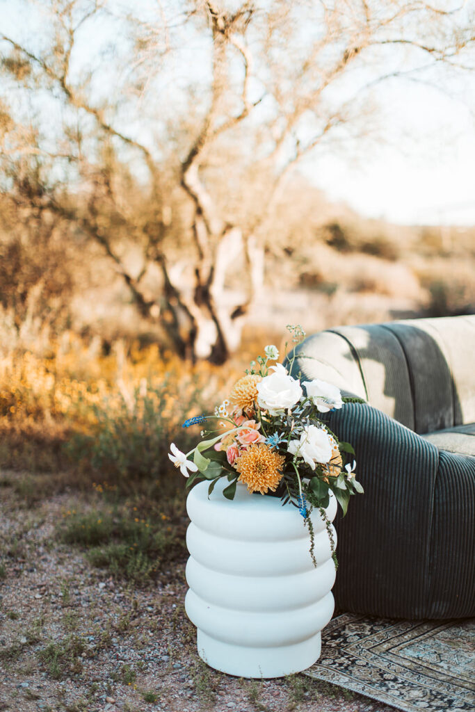
[[[114,344],[103,355],[71,335],[42,353],[11,350],[0,356],[0,465],[79,465],[122,486],[165,475],[169,441],[186,446],[180,425],[219,401],[228,381],[157,345]]]

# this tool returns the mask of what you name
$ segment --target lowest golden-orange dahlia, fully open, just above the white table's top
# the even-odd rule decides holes
[[[276,491],[284,462],[285,457],[259,443],[242,451],[234,466],[240,474],[239,481],[247,485],[249,492],[265,494],[268,490]]]

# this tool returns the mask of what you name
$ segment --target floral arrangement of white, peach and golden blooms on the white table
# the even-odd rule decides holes
[[[288,329],[294,344],[305,336],[300,326]],[[188,478],[187,486],[198,478],[206,479],[211,494],[216,482],[226,477],[229,484],[223,494],[230,500],[240,482],[251,493],[278,496],[283,504],[296,506],[308,526],[315,565],[309,515],[318,508],[327,523],[336,565],[325,513],[330,492],[345,515],[350,496],[362,493],[363,488],[355,478],[355,460],[347,461],[355,454],[353,447],[338,441],[321,414],[360,399],[344,398],[337,387],[320,379],[301,382],[293,378],[289,370],[295,352],[289,370],[280,363],[269,365],[278,358],[277,348],[266,346],[264,355],[251,362],[246,375],[234,384],[229,398],[216,407],[214,414],[184,422],[186,428],[214,422],[214,427],[201,431],[202,441],[187,454],[172,443],[169,459]]]

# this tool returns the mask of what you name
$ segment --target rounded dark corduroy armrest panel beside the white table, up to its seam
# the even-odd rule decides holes
[[[338,607],[379,615],[423,617],[439,452],[367,404],[348,403],[328,417],[355,448],[365,494],[338,515]]]

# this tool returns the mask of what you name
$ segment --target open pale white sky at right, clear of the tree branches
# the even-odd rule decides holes
[[[330,155],[305,167],[333,201],[397,224],[475,225],[475,77],[466,100],[425,85],[380,95],[385,145],[365,159]]]

